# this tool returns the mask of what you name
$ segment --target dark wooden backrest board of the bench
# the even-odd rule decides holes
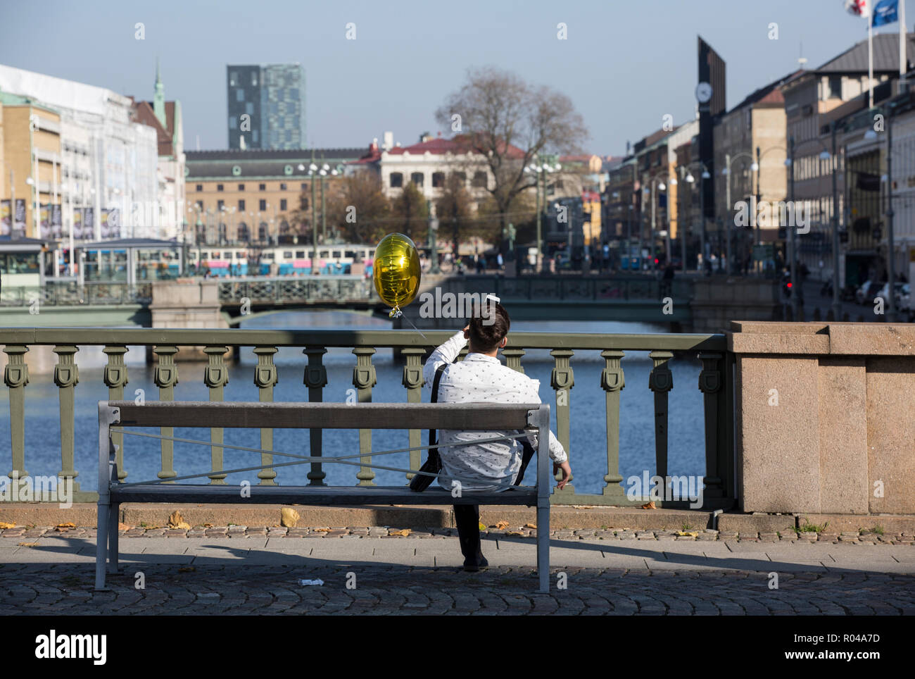
[[[327,404],[246,401],[102,402],[121,411],[121,426],[274,429],[524,429],[540,404]],[[190,406],[190,407],[188,407]],[[341,407],[342,406],[342,407]]]

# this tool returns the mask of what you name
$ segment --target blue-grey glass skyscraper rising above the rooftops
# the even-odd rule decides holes
[[[305,70],[300,64],[227,66],[226,93],[229,148],[305,148]]]

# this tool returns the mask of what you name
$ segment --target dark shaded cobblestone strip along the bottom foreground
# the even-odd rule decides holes
[[[317,567],[321,586],[300,586],[290,566],[145,566],[92,590],[92,566],[0,566],[9,614],[53,615],[912,615],[915,578],[792,573],[770,589],[764,573],[567,568],[567,587],[536,593],[530,568]],[[346,587],[348,573],[355,588]],[[351,579],[351,577],[350,577]]]

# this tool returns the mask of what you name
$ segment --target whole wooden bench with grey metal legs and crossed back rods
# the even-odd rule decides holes
[[[262,486],[247,497],[226,484],[166,483],[161,480],[121,483],[115,462],[112,427],[234,427],[293,429],[453,429],[500,432],[536,431],[537,483],[511,490],[463,491],[452,497],[434,482],[423,492],[407,486]],[[550,406],[546,404],[325,404],[247,402],[99,402],[99,505],[95,588],[105,588],[107,572],[118,569],[118,509],[123,502],[220,502],[304,505],[362,504],[496,504],[537,508],[537,575],[541,592],[549,592]],[[209,444],[208,444],[209,445]],[[219,444],[216,444],[219,446]],[[343,456],[340,456],[341,458]],[[425,456],[424,456],[425,457]],[[349,456],[352,461],[358,455]],[[335,458],[302,456],[296,464],[333,462]],[[280,465],[270,465],[272,467]],[[250,467],[248,469],[263,469]],[[231,472],[231,469],[219,473]],[[195,475],[205,478],[212,471]]]

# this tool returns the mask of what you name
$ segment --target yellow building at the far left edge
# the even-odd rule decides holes
[[[19,235],[39,238],[40,206],[60,204],[60,116],[27,97],[5,92],[0,92],[0,109],[0,200],[11,201],[3,207],[14,214],[16,204],[25,204],[24,224],[5,221],[0,235],[8,235],[12,228]]]

